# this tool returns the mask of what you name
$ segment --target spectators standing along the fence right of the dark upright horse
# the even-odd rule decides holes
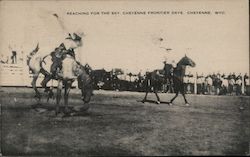
[[[195,78],[187,75],[184,80],[187,93],[194,92]],[[247,74],[230,73],[228,75],[213,73],[196,76],[197,94],[209,95],[242,95],[249,90],[249,76]]]

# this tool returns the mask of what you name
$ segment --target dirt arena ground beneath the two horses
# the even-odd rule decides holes
[[[144,93],[94,94],[87,112],[64,117],[55,116],[55,101],[34,107],[30,88],[2,87],[2,155],[250,154],[250,97],[187,95],[187,107],[181,96],[169,106],[141,103]],[[69,103],[82,104],[77,89]]]

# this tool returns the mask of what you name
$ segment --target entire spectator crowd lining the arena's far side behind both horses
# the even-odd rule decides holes
[[[21,52],[23,53],[23,52]],[[0,55],[0,63],[17,64],[17,53],[11,51],[11,57]],[[22,55],[21,55],[22,56]],[[23,61],[22,58],[19,59]],[[146,72],[147,73],[147,72]],[[127,91],[145,91],[145,78],[141,72],[132,74],[124,73],[122,69],[114,68],[111,71],[104,69],[92,70],[92,79],[95,89],[105,90],[127,90]],[[186,93],[204,94],[204,95],[250,95],[249,76],[234,72],[226,74],[213,73],[208,75],[193,75],[188,73],[184,77]],[[173,83],[171,80],[161,83],[161,91],[173,93]]]

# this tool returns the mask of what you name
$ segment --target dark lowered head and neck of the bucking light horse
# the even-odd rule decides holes
[[[81,89],[82,93],[82,100],[85,103],[88,103],[91,99],[92,93],[93,93],[93,87],[92,87],[92,81],[90,76],[85,71],[85,67],[82,65],[79,65],[78,67],[78,88]]]

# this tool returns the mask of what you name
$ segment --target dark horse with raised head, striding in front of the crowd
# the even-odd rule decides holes
[[[161,73],[161,72],[157,73],[155,71],[149,73],[146,76],[145,80],[151,81],[151,84],[147,84],[146,95],[145,95],[144,99],[142,100],[142,102],[147,101],[147,94],[148,94],[149,90],[153,88],[153,91],[157,97],[157,103],[159,104],[160,98],[157,94],[157,90],[159,90],[159,88],[161,87],[162,82],[164,82],[164,80],[168,80],[169,76],[171,76],[170,78],[172,80],[168,80],[168,82],[173,81],[175,96],[171,99],[171,101],[169,102],[169,105],[172,105],[172,102],[175,100],[175,98],[178,96],[179,93],[181,93],[183,95],[186,105],[189,105],[188,101],[185,97],[185,88],[184,88],[184,82],[183,82],[183,78],[185,76],[185,71],[186,71],[186,66],[195,67],[195,62],[192,61],[192,59],[188,58],[185,55],[177,63],[177,66],[175,68],[169,69],[169,68],[166,68],[166,66],[164,66],[163,73]],[[171,74],[171,72],[169,72],[169,70],[173,70],[173,73]]]

